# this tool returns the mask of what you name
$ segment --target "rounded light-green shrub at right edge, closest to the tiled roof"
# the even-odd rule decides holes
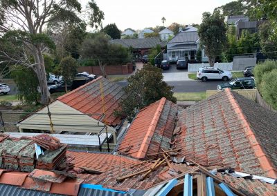
[[[277,69],[263,75],[260,86],[262,98],[265,99],[267,104],[277,110]]]

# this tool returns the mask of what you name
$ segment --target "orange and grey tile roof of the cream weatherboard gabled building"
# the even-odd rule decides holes
[[[120,117],[114,116],[114,110],[118,109],[118,103],[125,94],[121,86],[109,81],[109,79],[98,77],[57,99],[80,112],[102,114],[100,81],[102,82],[103,95],[105,97],[105,116],[107,124],[116,126],[121,123],[121,119]],[[100,119],[100,116],[91,117]]]

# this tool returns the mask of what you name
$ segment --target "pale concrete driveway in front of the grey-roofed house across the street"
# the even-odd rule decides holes
[[[168,81],[193,81],[188,78],[188,69],[177,70],[176,64],[171,65],[169,70],[163,70],[163,80]]]

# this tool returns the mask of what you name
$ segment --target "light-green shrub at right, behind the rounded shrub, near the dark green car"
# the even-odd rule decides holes
[[[274,69],[277,69],[277,61],[270,60],[260,63],[254,68],[255,82],[258,88],[261,88],[260,84],[262,83],[263,75]]]

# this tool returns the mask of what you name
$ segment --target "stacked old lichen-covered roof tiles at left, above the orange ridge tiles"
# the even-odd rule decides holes
[[[35,168],[53,170],[60,164],[66,161],[66,145],[60,144],[57,146],[57,139],[46,137],[48,141],[42,141],[40,137],[40,144],[44,143],[44,147],[48,148],[44,155],[39,155],[38,159],[35,157],[35,141],[31,137],[22,137],[15,139],[8,137],[8,135],[0,136],[0,165],[1,168],[21,170],[30,172]],[[53,142],[55,141],[55,142]],[[47,147],[48,146],[48,147]],[[56,148],[56,150],[53,150]]]

